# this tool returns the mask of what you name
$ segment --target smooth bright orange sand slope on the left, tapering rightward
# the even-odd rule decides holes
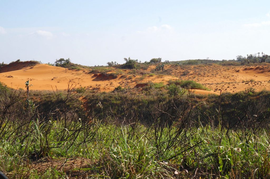
[[[118,75],[116,79],[106,79],[95,74],[88,74],[83,70],[68,70],[47,64],[38,64],[33,68],[26,67],[21,70],[0,73],[0,81],[12,88],[25,88],[25,81],[29,80],[29,83],[33,85],[30,89],[34,90],[67,89],[68,83],[70,83],[70,85],[76,85],[76,88],[99,88],[100,91],[112,91],[119,85],[134,87],[136,82],[138,83],[137,80],[134,80],[134,78],[139,77],[138,75],[131,80],[120,78],[121,76]],[[127,76],[129,75],[127,74]],[[155,75],[139,80],[139,82],[147,83],[151,80],[155,83],[164,82],[166,84],[168,80],[173,79],[176,78],[168,75]]]

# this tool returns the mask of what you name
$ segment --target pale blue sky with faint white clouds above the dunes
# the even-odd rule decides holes
[[[270,1],[0,0],[0,62],[270,54]]]

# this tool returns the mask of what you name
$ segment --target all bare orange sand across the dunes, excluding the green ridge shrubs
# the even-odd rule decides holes
[[[33,90],[67,89],[68,83],[70,83],[70,85],[76,85],[76,88],[86,87],[100,89],[100,91],[113,91],[119,85],[142,88],[143,84],[148,81],[167,84],[168,80],[176,79],[194,80],[212,89],[212,91],[193,89],[192,92],[196,94],[220,94],[220,90],[238,92],[250,87],[257,91],[270,90],[270,64],[257,66],[165,65],[163,73],[166,75],[142,76],[136,74],[134,76],[129,73],[130,70],[122,70],[123,73],[117,75],[116,78],[102,74],[89,74],[87,70],[68,70],[47,64],[38,64],[33,68],[22,65],[16,65],[14,69],[9,68],[8,72],[0,73],[1,82],[12,88],[25,88],[24,83],[29,80],[33,85],[30,89]],[[154,68],[155,65],[150,66],[147,71]]]

